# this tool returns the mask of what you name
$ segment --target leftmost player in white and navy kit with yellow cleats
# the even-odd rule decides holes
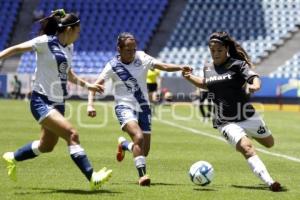
[[[15,152],[3,155],[8,175],[16,180],[16,163],[51,152],[58,139],[63,138],[72,160],[90,182],[91,189],[98,189],[109,179],[112,171],[106,168],[94,171],[80,145],[77,130],[64,117],[68,80],[90,91],[103,92],[102,86],[82,80],[71,68],[73,42],[79,37],[80,20],[75,14],[66,14],[60,9],[40,22],[41,36],[0,52],[0,59],[27,51],[35,51],[37,57],[30,107],[41,125],[41,137]]]

